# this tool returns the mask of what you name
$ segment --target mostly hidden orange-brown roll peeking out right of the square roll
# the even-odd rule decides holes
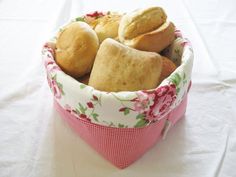
[[[174,70],[176,65],[167,57],[162,56],[162,71],[160,76],[160,82],[167,78]]]

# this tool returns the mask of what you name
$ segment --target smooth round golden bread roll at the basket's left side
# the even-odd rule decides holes
[[[56,62],[74,78],[91,71],[99,40],[85,22],[73,22],[60,33],[56,42]]]

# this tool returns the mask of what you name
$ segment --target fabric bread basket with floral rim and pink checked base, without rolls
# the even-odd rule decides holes
[[[68,124],[104,158],[119,168],[139,159],[180,120],[191,85],[193,50],[179,30],[163,51],[180,66],[157,88],[103,92],[65,74],[54,60],[49,40],[42,57],[54,105]]]

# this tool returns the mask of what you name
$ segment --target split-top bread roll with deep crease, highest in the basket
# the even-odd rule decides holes
[[[136,10],[124,15],[118,30],[119,40],[127,46],[160,52],[174,39],[174,24],[160,7]]]

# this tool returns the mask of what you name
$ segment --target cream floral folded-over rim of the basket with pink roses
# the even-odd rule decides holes
[[[180,104],[191,80],[191,45],[179,30],[175,34],[176,40],[163,55],[180,66],[157,88],[135,92],[103,92],[80,83],[60,69],[54,60],[54,48],[46,43],[42,57],[55,100],[78,119],[103,126],[137,128],[160,121]],[[56,37],[53,39],[55,42]]]

